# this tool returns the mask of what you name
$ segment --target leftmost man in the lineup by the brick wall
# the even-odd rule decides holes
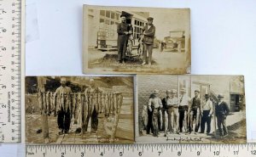
[[[160,109],[163,107],[161,99],[159,98],[159,90],[154,89],[153,94],[148,100],[148,127],[147,134],[150,129],[153,131],[153,136],[158,136],[159,122],[160,122]]]

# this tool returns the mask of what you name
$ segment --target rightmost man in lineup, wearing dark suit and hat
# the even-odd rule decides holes
[[[217,118],[217,126],[219,136],[227,136],[228,129],[226,126],[227,116],[230,114],[230,108],[226,102],[224,102],[224,96],[218,94],[218,104],[215,105],[215,115]],[[223,126],[223,129],[221,128]]]

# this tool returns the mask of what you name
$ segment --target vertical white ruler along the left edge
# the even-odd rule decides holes
[[[0,143],[20,143],[21,0],[0,0]]]

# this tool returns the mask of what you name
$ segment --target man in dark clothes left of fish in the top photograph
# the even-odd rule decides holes
[[[119,63],[125,63],[125,52],[127,47],[127,41],[129,36],[128,24],[126,24],[126,18],[124,14],[120,15],[121,23],[117,26],[118,33],[118,60]]]

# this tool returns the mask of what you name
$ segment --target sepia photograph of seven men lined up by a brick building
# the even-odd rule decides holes
[[[247,143],[243,76],[137,76],[137,143]]]

